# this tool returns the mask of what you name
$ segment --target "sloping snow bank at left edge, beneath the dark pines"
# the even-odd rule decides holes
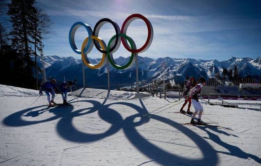
[[[0,97],[12,96],[12,97],[32,97],[39,96],[38,90],[18,88],[9,85],[0,85]]]

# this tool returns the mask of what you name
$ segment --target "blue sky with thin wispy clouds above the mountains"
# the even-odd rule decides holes
[[[70,47],[71,26],[78,21],[94,28],[102,18],[110,18],[121,28],[131,14],[139,13],[153,26],[153,41],[139,56],[226,60],[232,56],[257,58],[261,56],[261,1],[241,0],[37,0],[36,5],[49,14],[52,32],[44,40],[44,55],[73,56]],[[147,28],[141,19],[127,29],[137,48],[147,38]],[[109,23],[102,26],[99,37],[106,44],[115,35]],[[79,49],[88,36],[85,28],[78,28],[75,41]],[[130,56],[121,44],[113,54]],[[101,58],[93,47],[89,58]]]

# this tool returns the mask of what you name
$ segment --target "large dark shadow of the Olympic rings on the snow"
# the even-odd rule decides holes
[[[55,114],[55,116],[47,118],[45,120],[39,121],[25,121],[21,119],[21,117],[28,111],[32,109],[38,109],[44,106],[37,106],[33,108],[28,108],[25,110],[18,111],[6,117],[3,120],[3,123],[7,126],[28,126],[37,123],[44,123],[51,120],[59,119],[57,124],[57,132],[61,135],[62,138],[65,138],[69,141],[74,142],[93,142],[108,136],[111,136],[117,133],[120,129],[123,129],[127,139],[143,154],[147,157],[151,158],[153,161],[161,164],[161,165],[173,165],[173,164],[200,164],[200,165],[216,165],[218,163],[217,152],[211,147],[211,145],[205,141],[202,137],[196,134],[194,131],[188,129],[183,125],[177,125],[177,123],[173,120],[161,117],[159,115],[153,115],[152,117],[144,117],[143,115],[148,113],[146,107],[140,100],[142,107],[139,107],[135,104],[126,103],[126,102],[116,102],[111,104],[101,104],[98,101],[93,100],[81,100],[79,102],[88,102],[93,105],[93,107],[79,109],[73,111],[73,107],[64,108],[52,108],[51,112]],[[130,108],[133,108],[138,113],[135,115],[131,115],[125,119],[115,111],[110,108],[112,105],[123,105]],[[43,110],[43,109],[40,109]],[[85,112],[86,111],[86,112]],[[81,132],[76,129],[73,125],[73,118],[91,114],[93,112],[98,111],[99,117],[110,123],[110,128],[101,134],[88,134],[85,132]],[[134,122],[135,118],[140,118],[138,122]],[[185,134],[188,138],[193,141],[198,148],[201,150],[203,157],[191,159],[186,157],[180,157],[178,154],[172,154],[160,147],[150,143],[146,140],[136,129],[136,126],[143,125],[148,123],[150,119],[154,119],[160,121],[162,123],[168,124],[177,130],[180,130],[183,134]]]

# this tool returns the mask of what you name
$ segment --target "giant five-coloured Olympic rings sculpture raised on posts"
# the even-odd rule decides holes
[[[148,36],[146,42],[142,47],[138,49],[136,48],[134,41],[129,36],[126,35],[128,26],[132,21],[136,19],[142,19],[146,23],[146,26],[148,28]],[[109,40],[108,46],[106,46],[105,42],[100,37],[98,37],[100,28],[106,23],[112,24],[116,32],[116,34],[112,36],[112,38]],[[74,36],[76,30],[81,26],[83,26],[88,32],[88,37],[83,41],[81,49],[78,49],[74,41]],[[69,32],[69,43],[71,48],[75,53],[81,54],[81,58],[83,62],[87,67],[91,69],[102,68],[107,63],[107,59],[109,60],[111,65],[116,69],[120,69],[120,70],[128,69],[131,66],[133,66],[135,62],[134,57],[137,56],[138,53],[142,53],[146,51],[151,45],[152,40],[153,40],[152,25],[150,21],[146,17],[142,16],[141,14],[132,14],[129,17],[127,17],[126,20],[123,22],[121,29],[119,28],[119,25],[116,22],[108,18],[103,18],[96,23],[93,30],[88,24],[85,24],[83,22],[76,22],[72,25]],[[127,43],[127,41],[130,43],[130,45]],[[114,52],[116,52],[119,49],[121,42],[123,43],[123,46],[127,49],[127,51],[131,52],[129,62],[123,66],[118,65],[115,62],[112,55]],[[91,50],[93,49],[93,45],[96,47],[98,51],[102,53],[102,58],[100,62],[95,65],[89,61],[87,56],[87,54],[90,53]]]

